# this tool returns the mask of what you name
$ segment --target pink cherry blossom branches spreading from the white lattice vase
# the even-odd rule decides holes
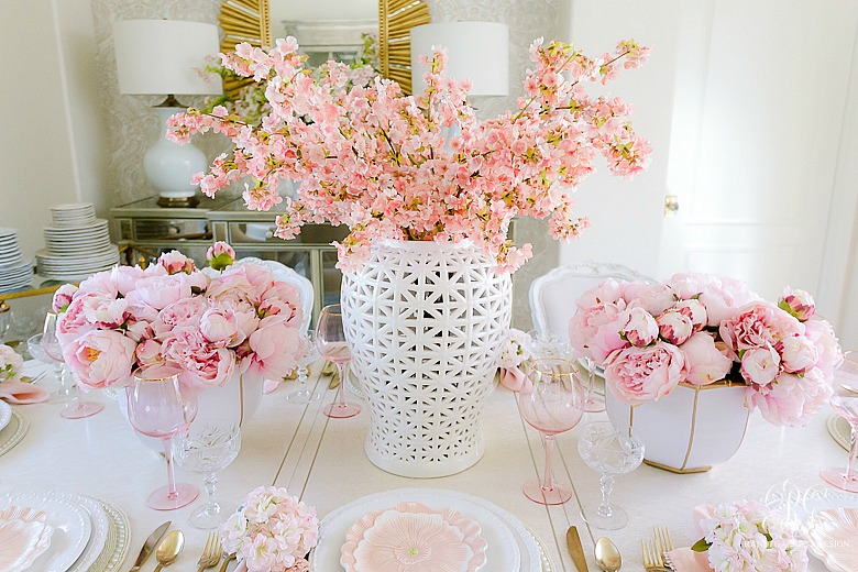
[[[284,200],[280,180],[299,182],[276,234],[292,239],[306,223],[348,226],[338,243],[343,270],[362,265],[378,240],[470,239],[499,271],[512,271],[531,256],[529,244],[507,240],[514,217],[549,218],[552,237],[574,238],[588,222],[573,212],[573,195],[597,156],[618,176],[645,168],[651,150],[631,129],[631,107],[584,86],[639,67],[648,53],[629,40],[590,58],[538,40],[517,109],[483,121],[468,103],[470,80],[446,75],[443,50],[425,58],[426,91],[405,96],[382,77],[355,82],[344,64],[314,73],[294,37],[268,50],[239,44],[221,54],[223,66],[264,84],[271,110],[250,124],[223,107],[189,109],[170,118],[168,138],[184,143],[212,130],[234,142],[193,180],[208,196],[250,178],[248,208],[268,210]]]

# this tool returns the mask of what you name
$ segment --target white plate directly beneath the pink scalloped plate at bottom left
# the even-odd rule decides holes
[[[92,532],[89,513],[72,499],[78,495],[58,493],[9,493],[0,496],[0,507],[29,506],[44,510],[47,524],[54,527],[51,548],[33,562],[30,570],[67,572],[84,552]]]

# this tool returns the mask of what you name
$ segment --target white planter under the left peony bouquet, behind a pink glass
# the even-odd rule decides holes
[[[237,369],[232,377],[222,386],[210,387],[197,394],[197,416],[194,419],[194,424],[217,419],[228,419],[239,425],[243,424],[253,416],[260,406],[262,386],[263,380],[261,377],[241,375]],[[122,415],[128,420],[128,393],[124,387],[117,392],[117,403]],[[129,422],[129,427],[130,425]],[[140,433],[138,433],[138,437],[150,449],[157,452],[164,450],[161,440]]]

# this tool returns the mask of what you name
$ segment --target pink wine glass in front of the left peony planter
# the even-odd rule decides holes
[[[186,431],[197,416],[197,397],[183,391],[178,376],[182,369],[173,363],[158,363],[138,370],[128,392],[128,417],[141,435],[164,442],[167,460],[167,486],[162,486],[146,499],[150,508],[173,510],[193,503],[199,490],[186,483],[176,484],[173,474],[173,437]]]

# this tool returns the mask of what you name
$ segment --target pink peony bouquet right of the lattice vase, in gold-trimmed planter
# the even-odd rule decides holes
[[[576,301],[572,345],[605,369],[620,402],[638,405],[680,383],[748,386],[746,402],[776,425],[806,425],[828,402],[843,355],[813,298],[787,288],[778,305],[744,283],[676,274],[664,284],[608,279]]]

